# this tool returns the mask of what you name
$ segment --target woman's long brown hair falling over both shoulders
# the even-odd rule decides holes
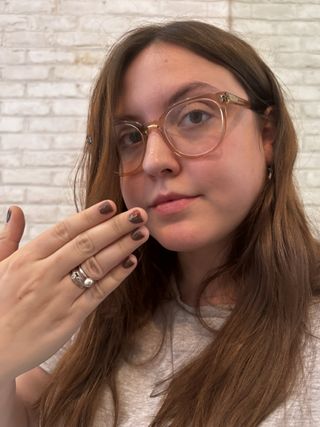
[[[293,181],[297,138],[277,80],[246,42],[212,25],[171,22],[129,32],[111,50],[95,84],[80,171],[84,205],[111,198],[125,210],[119,188],[112,119],[123,75],[151,43],[173,43],[220,64],[238,79],[253,108],[272,106],[276,137],[273,176],[236,230],[227,263],[239,293],[214,341],[170,382],[152,426],[257,426],[286,400],[302,368],[309,308],[319,295],[319,244]],[[109,387],[119,408],[116,369],[134,332],[168,297],[175,253],[153,238],[138,251],[138,267],[83,323],[41,400],[45,427],[60,421],[88,427]],[[121,404],[121,401],[120,401]],[[63,421],[61,421],[63,420]],[[60,425],[60,424],[59,424]]]

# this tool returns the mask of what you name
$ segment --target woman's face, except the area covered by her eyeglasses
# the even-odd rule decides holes
[[[117,115],[148,123],[161,116],[178,92],[180,100],[218,91],[248,99],[227,69],[187,49],[155,43],[127,69]],[[121,178],[127,208],[144,208],[151,235],[169,250],[219,249],[266,180],[272,141],[261,127],[253,111],[230,106],[223,141],[194,159],[177,157],[152,130],[141,171]]]

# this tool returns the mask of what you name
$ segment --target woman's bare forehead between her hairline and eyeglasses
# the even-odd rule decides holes
[[[132,113],[139,111],[142,105],[147,105],[149,111],[157,106],[165,108],[176,92],[188,86],[192,89],[186,97],[199,90],[208,93],[205,86],[217,92],[227,90],[246,96],[226,68],[186,48],[157,42],[140,52],[126,70],[117,110]]]

